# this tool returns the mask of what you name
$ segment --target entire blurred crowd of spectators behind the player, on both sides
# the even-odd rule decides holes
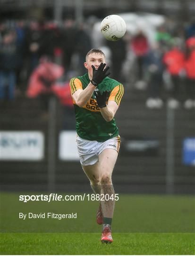
[[[46,111],[48,99],[56,95],[72,109],[69,79],[86,73],[85,55],[95,47],[87,26],[72,18],[60,25],[44,20],[1,22],[0,101],[21,94],[40,97]],[[166,101],[173,109],[182,104],[195,108],[195,21],[158,27],[153,45],[139,28],[117,42],[105,40],[101,47],[108,54],[112,78],[127,88],[147,90],[146,107],[161,108]]]

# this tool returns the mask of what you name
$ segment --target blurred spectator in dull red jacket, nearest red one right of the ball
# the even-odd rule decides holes
[[[137,88],[142,87],[144,79],[144,61],[145,57],[149,50],[149,44],[147,38],[144,36],[144,33],[139,30],[138,34],[132,38],[131,47],[136,55],[136,62],[138,65],[138,79]]]

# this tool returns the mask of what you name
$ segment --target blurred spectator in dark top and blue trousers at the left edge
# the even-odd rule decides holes
[[[0,40],[0,100],[13,100],[16,88],[16,70],[19,66],[20,46],[13,30],[1,32]]]

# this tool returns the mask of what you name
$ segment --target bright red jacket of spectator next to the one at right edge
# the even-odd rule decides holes
[[[184,54],[178,48],[173,48],[164,55],[163,62],[171,75],[178,75],[184,68],[184,58]]]

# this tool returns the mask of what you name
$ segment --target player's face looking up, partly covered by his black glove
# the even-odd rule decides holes
[[[86,62],[84,63],[85,68],[88,69],[89,75],[93,77],[93,69],[92,65],[95,69],[98,69],[101,63],[105,63],[105,58],[102,54],[99,53],[92,53],[87,56]]]

